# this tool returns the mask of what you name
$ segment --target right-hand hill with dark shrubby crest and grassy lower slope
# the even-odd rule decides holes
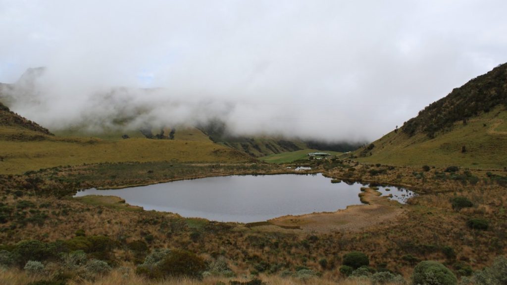
[[[507,164],[506,106],[507,63],[455,88],[353,155],[391,165],[502,168]]]

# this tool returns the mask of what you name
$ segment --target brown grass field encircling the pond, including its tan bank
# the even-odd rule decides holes
[[[320,161],[313,165],[312,171],[321,171],[342,180],[403,185],[416,190],[419,196],[412,198],[407,205],[400,205],[376,196],[370,189],[364,197],[369,205],[253,224],[186,219],[177,213],[132,210],[117,199],[73,199],[69,196],[73,193],[70,189],[84,185],[109,188],[134,181],[135,184],[153,183],[172,175],[177,179],[202,173],[246,173],[254,168],[257,173],[281,173],[285,170],[285,165],[269,164],[174,164],[173,167],[165,167],[166,164],[85,165],[3,176],[0,183],[3,203],[12,208],[16,208],[19,201],[30,201],[32,205],[23,210],[25,216],[2,225],[0,243],[12,245],[23,239],[45,242],[68,240],[75,237],[77,229],[83,229],[88,236],[105,235],[117,241],[120,245],[113,252],[115,266],[125,264],[132,267],[134,256],[125,244],[144,240],[150,235],[153,237],[148,243],[150,248],[184,248],[207,260],[224,256],[238,276],[250,275],[261,263],[279,268],[271,274],[265,273],[269,284],[299,282],[280,279],[276,273],[280,270],[294,271],[299,266],[321,272],[323,276],[307,282],[327,284],[344,280],[344,284],[350,284],[354,281],[344,279],[338,268],[342,256],[351,251],[367,253],[373,268],[386,267],[406,278],[412,272],[414,260],[438,260],[449,268],[460,262],[480,269],[491,264],[494,257],[507,253],[505,188],[493,181],[487,171],[471,170],[470,177],[477,177],[477,181],[466,175],[468,178],[464,181],[452,180],[449,173],[446,173],[444,181],[436,178],[438,173],[443,173],[442,168],[424,172],[418,168],[374,166],[353,161]],[[153,177],[146,174],[151,169],[154,169]],[[382,174],[370,173],[370,170],[382,172],[382,169],[385,169]],[[459,169],[457,174],[468,173],[466,171]],[[503,170],[491,174],[505,176]],[[38,177],[41,180],[33,183],[38,181]],[[17,190],[23,194],[17,196]],[[469,198],[474,206],[454,210],[450,200],[456,196]],[[47,216],[42,223],[37,223],[38,215]],[[488,220],[489,229],[469,229],[466,221],[470,218]],[[448,247],[452,248],[454,256],[444,254]],[[407,256],[411,259],[405,258]],[[319,265],[322,259],[328,261],[326,268]],[[8,275],[9,272],[3,274]],[[98,284],[110,282],[100,280],[117,278],[115,276],[118,275],[114,275],[117,273],[112,274],[105,279],[97,279]],[[144,282],[141,277],[128,280]],[[204,279],[203,282],[208,281]]]

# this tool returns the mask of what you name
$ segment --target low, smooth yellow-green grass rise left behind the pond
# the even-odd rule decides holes
[[[0,134],[3,129],[0,128]],[[0,173],[59,165],[99,162],[239,162],[249,158],[213,142],[130,138],[100,140],[96,138],[50,138],[43,140],[0,140]]]

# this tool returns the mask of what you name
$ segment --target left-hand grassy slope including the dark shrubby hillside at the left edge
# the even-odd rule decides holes
[[[120,131],[105,132],[103,138],[71,137],[72,131],[54,136],[47,129],[10,112],[0,104],[0,173],[60,165],[100,162],[243,162],[247,155],[214,144],[197,129],[183,129],[174,140],[142,138],[132,131],[123,139]]]

